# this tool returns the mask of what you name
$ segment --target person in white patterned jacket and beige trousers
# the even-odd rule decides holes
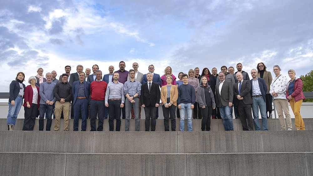
[[[277,110],[281,130],[286,130],[284,113],[286,116],[288,130],[292,130],[288,100],[286,98],[288,81],[285,75],[280,74],[280,71],[280,67],[278,65],[274,65],[273,72],[275,73],[275,78],[269,86],[269,93],[272,94],[274,98],[274,104]]]

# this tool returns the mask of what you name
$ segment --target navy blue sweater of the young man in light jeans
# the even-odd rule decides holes
[[[181,84],[178,86],[178,99],[177,105],[180,103],[191,103],[195,104],[196,102],[196,93],[195,89],[190,84]]]

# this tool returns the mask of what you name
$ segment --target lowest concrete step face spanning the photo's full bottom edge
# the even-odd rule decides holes
[[[1,175],[311,175],[313,153],[0,152]]]

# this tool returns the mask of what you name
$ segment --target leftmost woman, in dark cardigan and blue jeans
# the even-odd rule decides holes
[[[24,96],[25,84],[23,84],[25,74],[18,72],[15,80],[10,84],[9,91],[9,113],[7,117],[8,130],[12,131],[15,126],[16,118],[21,110]]]

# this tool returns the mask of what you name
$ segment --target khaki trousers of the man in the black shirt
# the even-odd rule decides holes
[[[60,128],[60,118],[61,113],[63,111],[64,116],[64,131],[69,130],[69,102],[61,103],[59,101],[55,102],[55,108],[54,108],[54,115],[55,115],[55,121],[54,121],[54,131],[59,131]]]

